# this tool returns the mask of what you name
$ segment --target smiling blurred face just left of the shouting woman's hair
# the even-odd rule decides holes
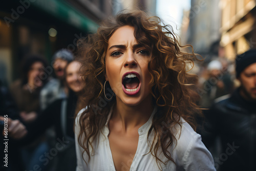
[[[73,61],[69,63],[66,72],[66,81],[68,83],[68,87],[74,92],[80,92],[84,87],[84,82],[82,81],[81,73],[80,73],[81,63],[78,61]]]

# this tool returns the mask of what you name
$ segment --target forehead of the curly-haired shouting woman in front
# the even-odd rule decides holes
[[[134,37],[134,27],[122,26],[110,37],[109,47],[113,45],[126,45],[129,42],[137,43],[137,40]]]

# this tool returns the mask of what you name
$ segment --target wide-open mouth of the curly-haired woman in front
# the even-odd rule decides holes
[[[125,73],[122,78],[123,91],[125,94],[134,95],[140,89],[140,76],[136,72]]]

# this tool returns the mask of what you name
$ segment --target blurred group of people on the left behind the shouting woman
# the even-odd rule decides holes
[[[73,122],[85,86],[80,66],[67,49],[53,55],[52,66],[44,56],[29,55],[21,77],[9,89],[1,86],[0,119],[8,117],[10,138],[7,170],[75,170]]]

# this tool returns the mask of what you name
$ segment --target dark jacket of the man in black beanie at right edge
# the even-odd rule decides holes
[[[206,147],[220,137],[222,150],[215,158],[216,167],[256,170],[256,102],[245,100],[237,89],[205,111],[205,118],[202,140]]]

